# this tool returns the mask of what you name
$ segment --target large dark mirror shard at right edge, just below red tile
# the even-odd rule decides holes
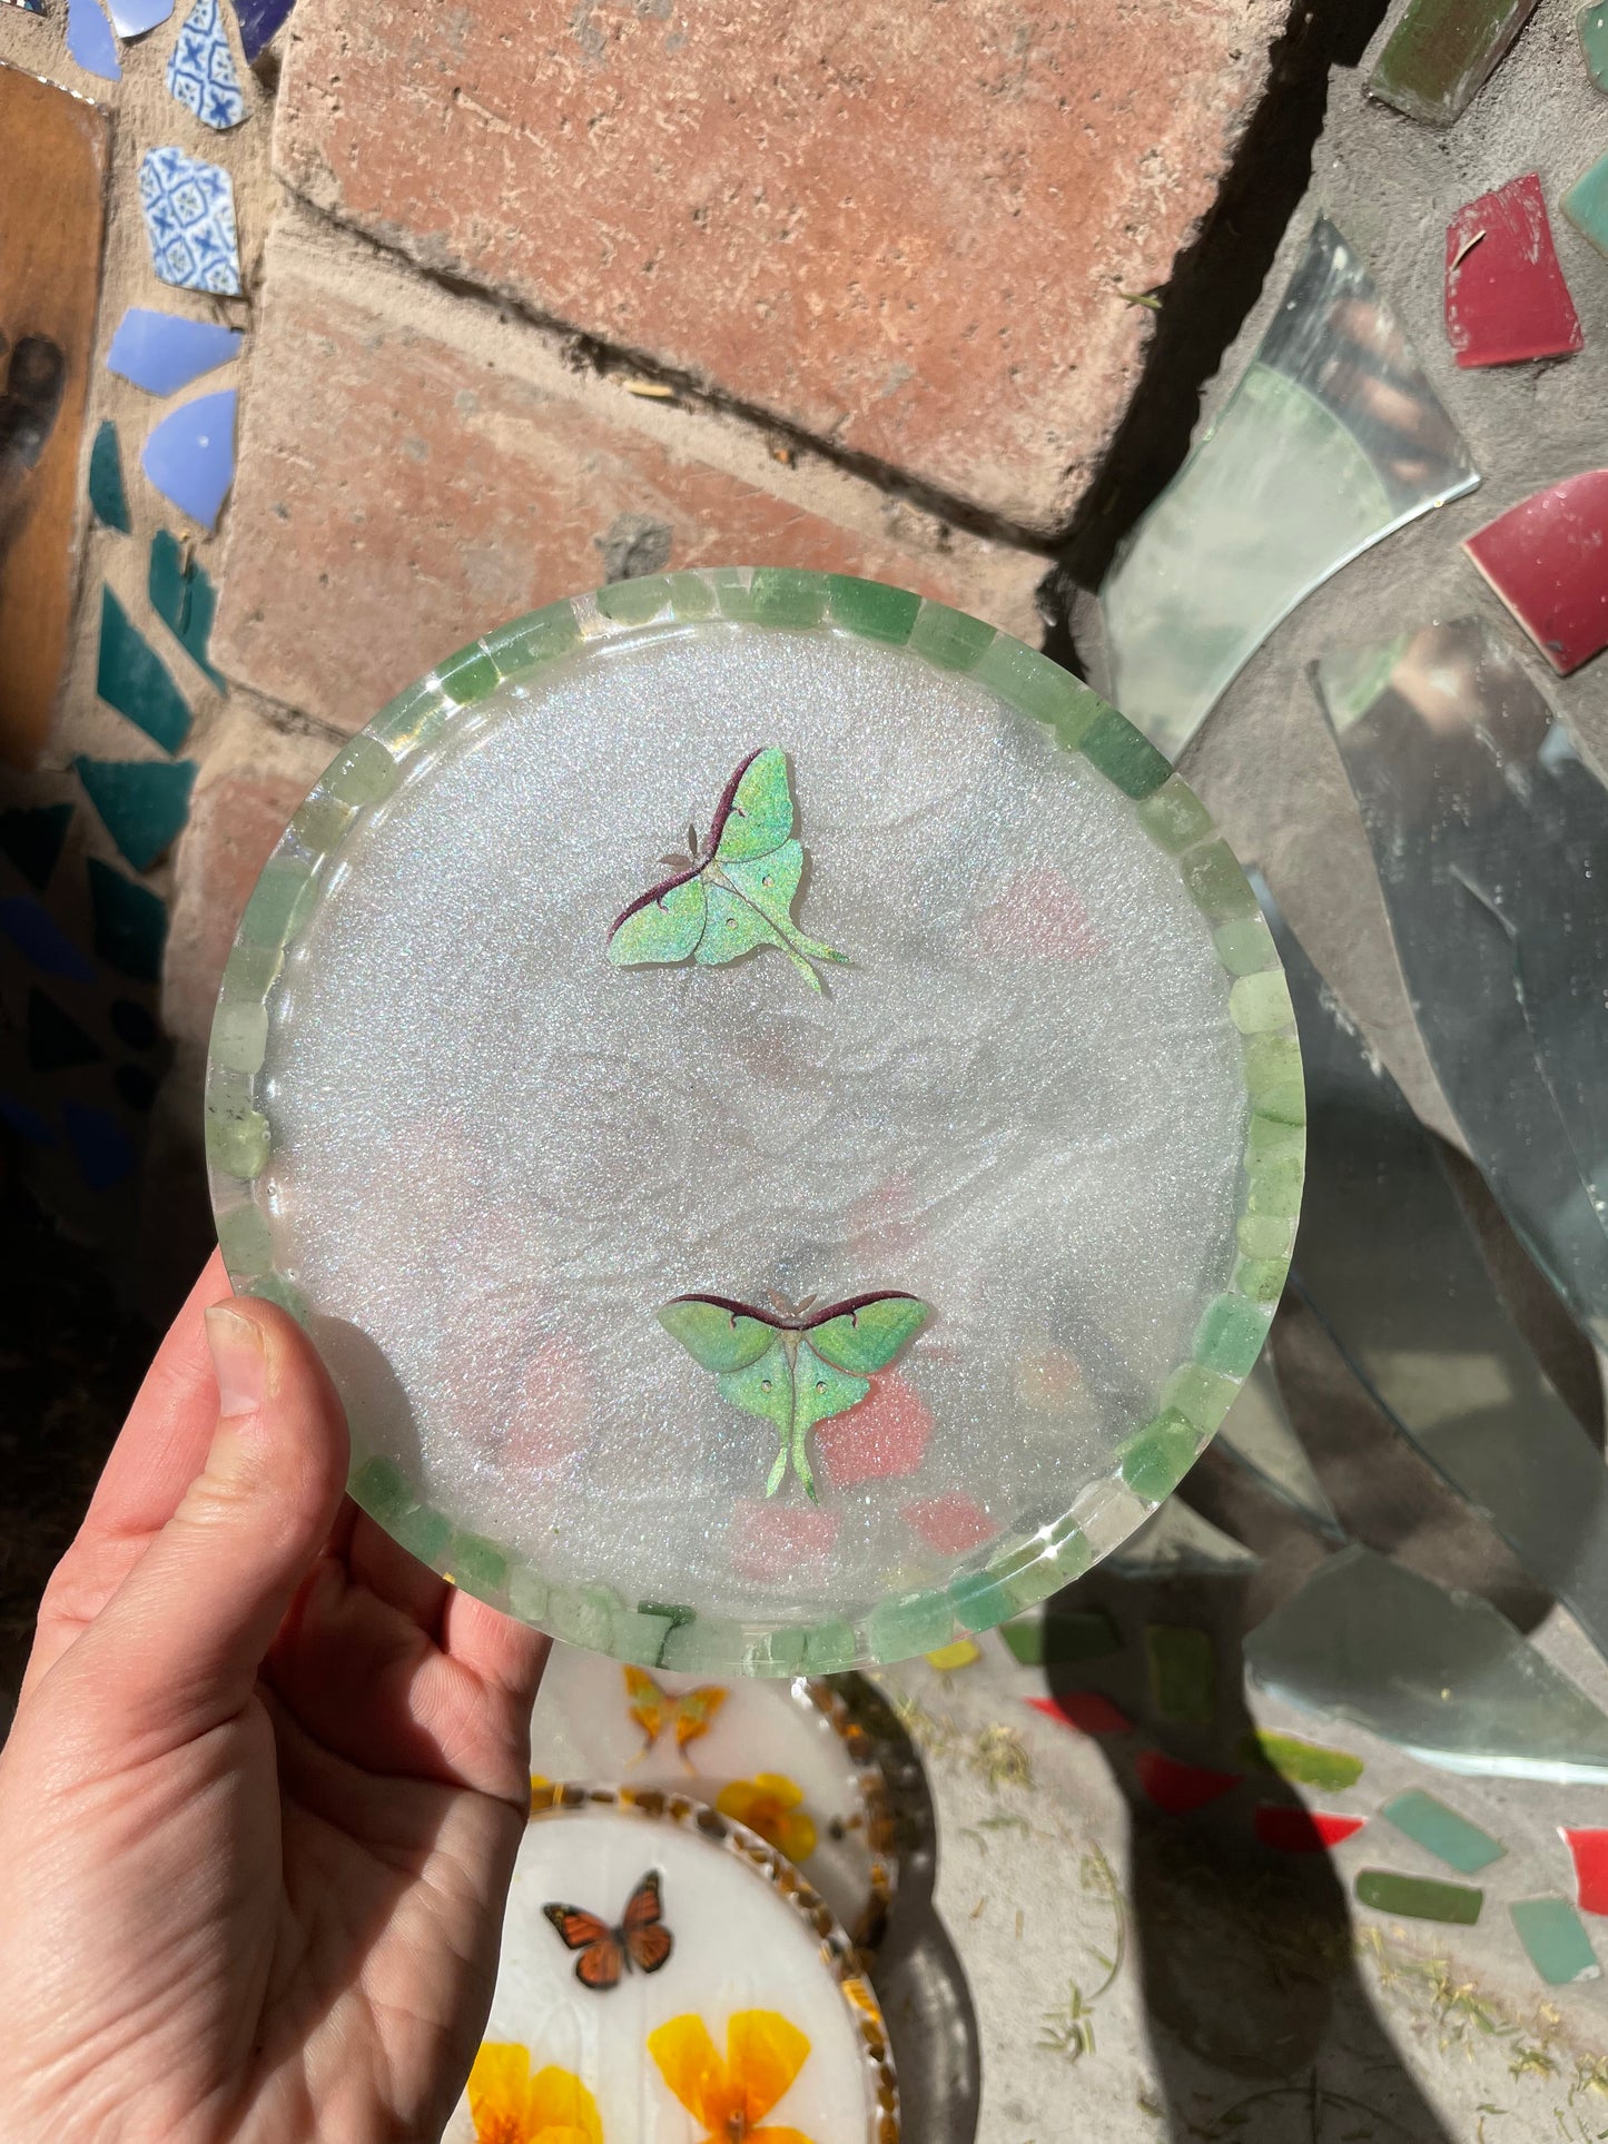
[[[1434,1074],[1531,1256],[1608,1346],[1608,791],[1475,617],[1336,652],[1312,680]]]

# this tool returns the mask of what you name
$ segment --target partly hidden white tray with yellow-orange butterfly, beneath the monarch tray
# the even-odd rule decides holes
[[[708,1801],[783,1852],[870,1947],[894,1889],[894,1818],[847,1696],[802,1674],[710,1683],[555,1644],[530,1762],[538,1780],[630,1780]]]

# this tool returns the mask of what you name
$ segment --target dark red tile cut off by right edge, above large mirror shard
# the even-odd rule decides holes
[[[1608,647],[1608,470],[1535,491],[1462,549],[1559,678]]]

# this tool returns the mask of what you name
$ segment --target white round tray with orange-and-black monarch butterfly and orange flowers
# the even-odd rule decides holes
[[[853,1945],[757,1833],[684,1795],[532,1790],[497,1987],[446,2144],[551,2133],[898,2144]]]

